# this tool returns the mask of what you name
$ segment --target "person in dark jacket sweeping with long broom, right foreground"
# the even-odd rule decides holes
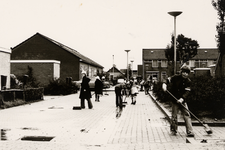
[[[183,118],[185,120],[186,132],[187,136],[192,137],[194,136],[192,123],[191,123],[191,116],[190,113],[184,108],[188,109],[186,98],[190,92],[191,80],[188,78],[190,73],[190,69],[187,66],[183,66],[181,68],[181,74],[174,75],[167,79],[167,83],[163,83],[162,89],[163,91],[167,91],[167,84],[169,86],[169,91],[178,99],[172,100],[172,118],[171,118],[171,132],[176,135],[177,133],[177,114],[180,110],[182,112]],[[184,106],[182,106],[182,105]]]

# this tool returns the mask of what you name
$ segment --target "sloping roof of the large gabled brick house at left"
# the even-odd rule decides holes
[[[66,45],[64,45],[64,44],[62,44],[62,43],[59,43],[59,42],[57,42],[57,41],[55,41],[55,40],[53,40],[53,39],[51,39],[51,38],[49,38],[49,37],[47,37],[47,36],[44,36],[44,35],[40,34],[40,33],[36,33],[34,36],[36,36],[36,35],[39,35],[39,36],[41,36],[41,37],[43,37],[43,38],[49,40],[50,42],[56,44],[57,46],[61,47],[62,49],[66,50],[66,51],[68,51],[68,52],[70,52],[70,53],[72,53],[73,55],[75,55],[75,56],[77,56],[78,58],[80,58],[81,61],[84,62],[84,63],[90,64],[90,65],[93,65],[93,66],[96,66],[96,67],[104,68],[103,66],[101,66],[100,64],[98,64],[98,63],[96,63],[95,61],[91,60],[90,58],[88,58],[88,57],[82,55],[82,54],[79,53],[78,51],[76,51],[76,50],[74,50],[74,49],[72,49],[72,48],[70,48],[70,47],[68,47],[68,46],[66,46]],[[32,36],[32,37],[33,37],[33,36]],[[29,38],[29,39],[30,39],[30,38]],[[29,39],[27,39],[26,41],[28,41]],[[24,42],[26,42],[26,41],[24,41]],[[22,42],[22,43],[24,43],[24,42]],[[21,44],[22,44],[22,43],[21,43]],[[19,44],[19,45],[21,45],[21,44]],[[15,46],[14,48],[18,47],[19,45]],[[14,48],[13,48],[13,49],[14,49]]]

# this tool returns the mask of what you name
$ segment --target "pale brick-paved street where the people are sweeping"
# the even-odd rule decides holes
[[[149,95],[140,92],[136,105],[128,104],[116,119],[113,91],[103,95],[100,102],[92,98],[93,109],[72,110],[79,106],[79,94],[51,98],[0,111],[1,150],[33,149],[221,149],[223,143],[186,143],[184,127],[172,136],[165,115]],[[87,104],[86,104],[87,105]],[[204,135],[201,128],[195,128]],[[224,129],[216,129],[219,138]],[[24,136],[54,137],[51,141],[22,141]],[[222,137],[222,136],[221,136]]]

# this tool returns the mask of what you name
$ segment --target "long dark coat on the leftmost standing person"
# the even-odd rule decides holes
[[[90,79],[86,76],[83,77],[81,82],[81,89],[80,89],[80,99],[90,99],[91,98],[91,90],[89,86]]]

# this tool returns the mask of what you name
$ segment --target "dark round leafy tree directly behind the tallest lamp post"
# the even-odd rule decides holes
[[[185,37],[183,34],[177,36],[177,61],[186,63],[189,59],[197,55],[199,44],[196,40]],[[168,61],[174,61],[174,35],[171,38],[171,44],[167,45],[165,55]]]

